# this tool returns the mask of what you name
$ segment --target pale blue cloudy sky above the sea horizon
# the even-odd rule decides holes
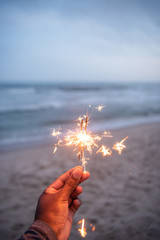
[[[160,82],[159,0],[1,0],[0,82]]]

